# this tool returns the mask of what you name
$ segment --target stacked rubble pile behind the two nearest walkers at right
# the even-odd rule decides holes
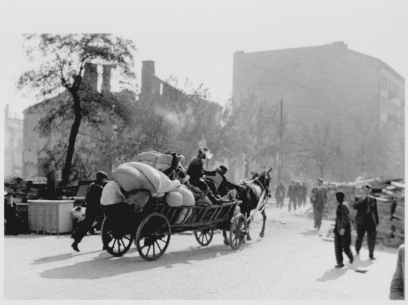
[[[368,179],[347,183],[325,183],[329,199],[324,217],[329,220],[336,219],[336,192],[342,191],[345,194],[345,201],[349,204],[352,226],[355,229],[354,216],[356,210],[352,208],[352,205],[355,198],[361,195],[362,186],[365,183],[372,185],[373,195],[377,199],[379,220],[377,242],[389,246],[398,246],[404,243],[405,185],[402,179]],[[355,234],[355,230],[352,230],[353,233]]]

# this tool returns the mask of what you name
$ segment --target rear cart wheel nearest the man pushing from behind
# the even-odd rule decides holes
[[[131,230],[123,224],[123,222],[105,217],[104,222],[100,230],[100,236],[102,237],[102,243],[108,253],[113,256],[122,256],[129,250],[132,245]]]

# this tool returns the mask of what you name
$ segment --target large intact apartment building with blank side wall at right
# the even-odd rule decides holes
[[[367,165],[367,169],[350,170],[347,179],[364,170],[374,176],[403,176],[404,86],[404,78],[389,65],[350,50],[343,42],[234,54],[234,106],[251,93],[271,103],[283,99],[285,136],[296,139],[300,130],[329,122],[332,136],[342,139],[346,151],[355,150],[368,135],[391,139],[382,148],[393,151],[382,156],[388,169]],[[286,144],[283,154],[293,149]],[[288,162],[296,160],[286,162],[289,169]],[[329,178],[336,179],[333,175]]]

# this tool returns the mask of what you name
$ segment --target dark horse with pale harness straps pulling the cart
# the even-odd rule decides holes
[[[269,183],[271,177],[269,173],[271,171],[272,169],[269,169],[268,171],[262,171],[260,174],[258,174],[257,172],[251,172],[252,178],[250,180],[244,180],[241,182],[241,185],[246,186],[246,188],[240,191],[236,196],[237,200],[242,201],[240,209],[241,213],[244,214],[247,218],[248,227],[253,220],[254,215],[257,212],[261,212],[263,216],[263,224],[261,233],[259,234],[260,237],[264,237],[265,234],[265,203],[267,202],[268,197],[270,197]],[[250,212],[254,209],[257,209],[257,211],[253,213],[252,216],[250,216]],[[225,231],[223,231],[222,233],[224,236],[224,244],[228,244],[228,239],[226,238]],[[251,240],[249,231],[247,232],[246,236],[247,240]]]

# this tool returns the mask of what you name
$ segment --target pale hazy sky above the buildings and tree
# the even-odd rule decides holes
[[[113,33],[134,41],[156,75],[186,78],[209,88],[211,99],[232,94],[233,56],[245,52],[323,45],[379,58],[408,75],[408,1],[18,1],[0,2],[2,105],[22,118],[36,102],[15,90],[27,64],[21,33]],[[4,106],[3,106],[4,107]]]

